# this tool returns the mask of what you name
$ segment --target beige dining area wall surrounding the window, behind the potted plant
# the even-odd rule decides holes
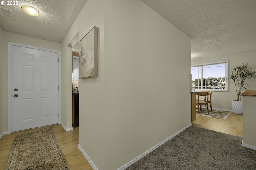
[[[256,62],[255,62],[256,51],[236,53],[231,55],[224,55],[219,57],[212,57],[200,60],[193,60],[192,65],[201,64],[201,63],[209,63],[215,61],[229,61],[229,74],[230,70],[235,65],[241,65],[242,63],[248,63],[248,66],[251,67],[254,71],[256,71]],[[256,80],[249,83],[250,89],[256,90]],[[232,110],[231,101],[236,100],[236,89],[234,88],[234,83],[230,82],[229,91],[228,92],[212,92],[212,107],[218,109],[228,109]]]

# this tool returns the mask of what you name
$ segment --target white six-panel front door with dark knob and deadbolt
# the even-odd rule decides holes
[[[12,46],[12,131],[58,123],[58,53]]]

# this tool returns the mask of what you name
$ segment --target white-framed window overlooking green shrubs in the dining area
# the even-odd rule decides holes
[[[191,74],[195,91],[228,91],[228,61],[192,65]]]

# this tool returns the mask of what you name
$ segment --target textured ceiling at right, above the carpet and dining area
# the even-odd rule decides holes
[[[192,59],[256,50],[256,0],[142,0],[192,40]]]

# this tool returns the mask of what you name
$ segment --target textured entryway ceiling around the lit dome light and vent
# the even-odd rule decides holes
[[[86,2],[87,0],[18,0],[18,6],[0,6],[11,10],[14,16],[12,20],[0,15],[0,26],[4,31],[61,42]],[[41,15],[28,16],[21,10],[22,5],[36,8]]]

